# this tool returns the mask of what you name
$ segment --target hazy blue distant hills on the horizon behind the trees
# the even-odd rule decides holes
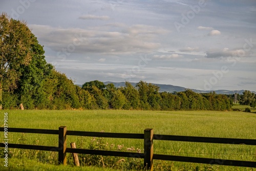
[[[111,82],[111,81],[106,81],[104,82],[104,84],[109,84],[109,83],[113,83],[115,85],[116,88],[118,87],[125,87],[125,82]],[[134,87],[136,86],[137,82],[130,82]],[[157,83],[152,83],[156,86],[158,86],[160,88],[160,92],[169,92],[169,93],[173,93],[173,92],[183,92],[185,91],[187,88],[184,87],[180,87],[180,86],[173,86],[170,84],[157,84]],[[82,85],[77,85],[82,87]],[[191,89],[192,91],[196,92],[196,93],[210,93],[210,92],[215,92],[216,94],[234,94],[234,92],[232,90],[196,90],[196,89]],[[238,93],[239,94],[243,94],[244,90],[239,90]],[[237,93],[237,91],[236,91]],[[252,91],[252,93],[255,93],[254,91]]]

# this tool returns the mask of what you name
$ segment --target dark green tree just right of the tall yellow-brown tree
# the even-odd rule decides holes
[[[17,81],[15,92],[19,97],[20,103],[27,103],[27,108],[33,108],[32,106],[34,105],[38,107],[42,103],[44,99],[42,82],[53,70],[53,66],[45,60],[43,47],[38,44],[35,36],[32,37],[32,60],[29,65],[20,65],[19,69],[16,70],[16,72],[20,73],[20,77]],[[28,105],[29,102],[31,105]]]

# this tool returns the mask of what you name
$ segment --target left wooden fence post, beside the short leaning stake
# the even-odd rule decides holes
[[[59,127],[59,155],[58,162],[59,164],[67,165],[66,149],[67,149],[67,127]]]

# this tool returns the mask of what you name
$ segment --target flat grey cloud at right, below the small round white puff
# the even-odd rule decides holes
[[[241,56],[245,56],[245,51],[242,49],[229,50],[228,48],[224,48],[223,50],[207,51],[204,57],[220,58],[220,57],[241,57]]]

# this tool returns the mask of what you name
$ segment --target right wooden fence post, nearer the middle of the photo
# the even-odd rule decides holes
[[[144,168],[153,170],[153,129],[144,130]]]

